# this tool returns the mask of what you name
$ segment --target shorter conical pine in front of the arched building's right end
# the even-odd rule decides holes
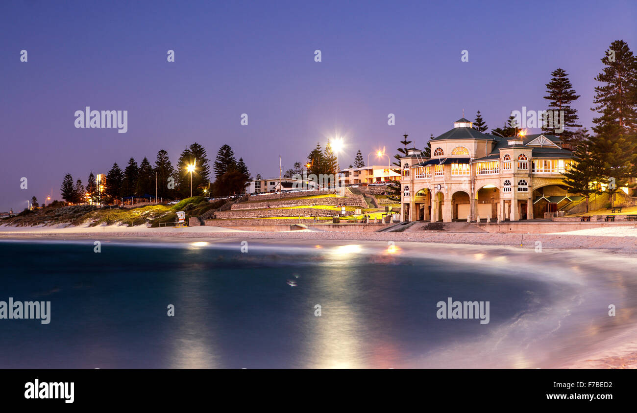
[[[582,140],[577,144],[573,155],[576,157],[576,164],[562,173],[563,181],[569,186],[571,192],[580,193],[586,197],[586,212],[589,212],[590,195],[601,193],[598,182],[603,179],[603,169],[599,160],[600,154],[594,151],[594,144],[585,129]]]

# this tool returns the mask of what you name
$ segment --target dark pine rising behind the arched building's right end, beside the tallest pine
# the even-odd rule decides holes
[[[548,99],[549,101],[548,110],[564,111],[564,125],[559,125],[564,131],[558,134],[555,132],[554,127],[550,127],[557,126],[554,116],[554,125],[545,125],[544,122],[542,122],[542,132],[547,132],[552,135],[558,134],[564,143],[572,144],[571,138],[574,132],[569,128],[578,128],[582,127],[582,125],[577,123],[579,120],[577,110],[571,108],[571,102],[575,101],[580,95],[575,94],[575,89],[573,89],[571,81],[568,80],[568,73],[566,73],[564,69],[555,69],[551,72],[551,76],[553,76],[553,78],[550,83],[547,83],[548,95],[546,95],[544,99]]]

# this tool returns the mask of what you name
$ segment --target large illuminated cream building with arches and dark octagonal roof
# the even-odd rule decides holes
[[[557,136],[483,134],[462,118],[430,146],[401,158],[401,221],[529,220],[582,199],[562,182],[574,157]]]

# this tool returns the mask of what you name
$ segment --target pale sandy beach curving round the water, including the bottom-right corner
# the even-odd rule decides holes
[[[444,233],[444,232],[337,232],[294,230],[285,232],[252,232],[222,227],[147,228],[102,225],[98,227],[0,227],[0,240],[22,241],[73,241],[103,240],[110,242],[199,242],[210,244],[233,244],[246,239],[259,240],[261,245],[289,246],[290,240],[299,247],[313,247],[317,241],[324,246],[338,246],[343,242],[358,244],[396,242],[407,251],[426,251],[433,244],[459,244],[465,254],[480,255],[480,252],[497,251],[501,248],[519,253],[538,253],[541,249],[575,253],[589,249],[594,254],[612,253],[622,259],[632,260],[637,252],[637,228],[613,227],[592,228],[556,234],[488,234],[488,233]],[[401,243],[401,244],[399,244]],[[457,250],[457,249],[456,249]],[[581,251],[585,253],[585,251]],[[456,252],[457,253],[457,252]],[[637,368],[637,327],[627,329],[621,337],[592,351],[585,358],[563,365],[561,368]]]

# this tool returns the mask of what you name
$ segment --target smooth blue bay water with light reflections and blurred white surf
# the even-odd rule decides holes
[[[47,325],[0,319],[0,368],[559,367],[612,346],[637,310],[634,258],[612,253],[240,248],[0,242],[0,300],[51,303]],[[439,319],[448,297],[489,302],[489,323]]]

